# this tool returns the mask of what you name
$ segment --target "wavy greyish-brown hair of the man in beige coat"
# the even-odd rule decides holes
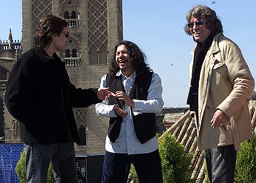
[[[210,30],[212,35],[216,35],[216,33],[223,33],[221,21],[218,19],[216,12],[210,9],[210,7],[203,5],[195,6],[193,9],[187,12],[186,19],[188,23],[190,22],[192,16],[203,23],[207,23],[207,28]],[[184,30],[187,35],[191,35],[187,25],[185,25]]]

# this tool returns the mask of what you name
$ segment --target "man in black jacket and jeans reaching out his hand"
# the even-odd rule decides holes
[[[20,122],[25,143],[26,182],[47,182],[49,161],[56,182],[78,182],[74,142],[79,133],[72,107],[87,107],[108,98],[108,88],[75,88],[64,62],[55,53],[69,40],[67,22],[54,15],[40,20],[35,44],[15,63],[5,94],[10,114]]]

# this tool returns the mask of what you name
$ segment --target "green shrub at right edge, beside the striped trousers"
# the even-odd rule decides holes
[[[241,143],[241,151],[237,153],[236,183],[256,183],[256,135]]]

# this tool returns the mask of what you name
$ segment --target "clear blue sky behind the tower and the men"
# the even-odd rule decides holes
[[[20,40],[21,4],[21,0],[0,0],[0,40],[7,40],[9,28],[14,40]],[[187,106],[188,68],[194,41],[184,32],[184,25],[187,11],[197,4],[216,11],[224,35],[241,48],[256,79],[256,1],[123,0],[124,40],[139,45],[151,69],[160,75],[166,107]]]

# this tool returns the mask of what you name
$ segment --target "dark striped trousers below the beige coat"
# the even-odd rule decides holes
[[[236,169],[234,145],[205,150],[208,177],[211,183],[233,183]]]

